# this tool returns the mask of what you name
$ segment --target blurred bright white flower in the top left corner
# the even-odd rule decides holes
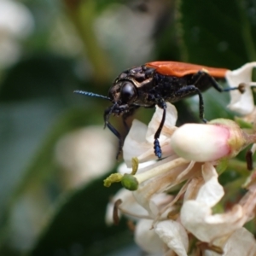
[[[21,55],[20,40],[34,28],[29,9],[22,3],[0,0],[0,68],[15,63]]]

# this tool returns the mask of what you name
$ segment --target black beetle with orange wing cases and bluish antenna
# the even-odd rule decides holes
[[[186,96],[199,96],[199,117],[204,119],[204,102],[201,92],[214,87],[219,92],[236,90],[236,88],[222,89],[215,79],[224,79],[226,68],[206,67],[177,61],[153,61],[139,67],[132,67],[120,73],[113,81],[108,96],[92,92],[75,90],[75,93],[85,96],[101,97],[112,102],[112,106],[104,112],[105,127],[119,138],[119,153],[123,146],[123,137],[113,125],[109,123],[110,115],[131,116],[137,108],[154,108],[155,105],[163,109],[162,119],[154,134],[154,154],[160,159],[162,156],[159,137],[166,119],[166,102],[177,102]],[[119,155],[118,153],[118,155]],[[118,157],[117,155],[117,157]]]

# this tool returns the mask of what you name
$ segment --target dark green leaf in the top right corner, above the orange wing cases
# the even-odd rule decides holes
[[[255,1],[178,1],[183,60],[240,67],[256,59]]]

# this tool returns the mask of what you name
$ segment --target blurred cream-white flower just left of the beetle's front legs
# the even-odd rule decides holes
[[[102,126],[89,126],[68,133],[56,144],[55,157],[63,168],[64,186],[75,187],[113,168],[116,148],[113,136]]]

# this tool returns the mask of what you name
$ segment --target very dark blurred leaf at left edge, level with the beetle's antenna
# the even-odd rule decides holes
[[[79,86],[78,82],[70,58],[49,52],[35,54],[9,68],[0,84],[0,101],[55,97],[61,102]]]

